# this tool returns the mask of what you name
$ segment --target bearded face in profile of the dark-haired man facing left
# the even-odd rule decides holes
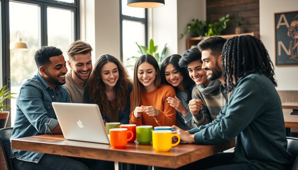
[[[202,68],[206,71],[208,80],[212,81],[222,77],[221,55],[215,57],[209,50],[202,51]]]

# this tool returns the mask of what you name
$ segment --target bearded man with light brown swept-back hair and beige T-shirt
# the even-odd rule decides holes
[[[64,86],[72,103],[87,103],[84,92],[92,71],[91,51],[91,46],[81,40],[73,42],[67,49],[67,63],[71,70],[66,74]]]

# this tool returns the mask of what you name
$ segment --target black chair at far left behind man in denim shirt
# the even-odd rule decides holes
[[[5,162],[8,170],[14,170],[12,161],[9,157],[10,147],[11,147],[9,138],[11,137],[12,132],[13,132],[13,127],[0,129],[0,144],[1,144],[1,148],[3,151],[3,155],[5,158]]]

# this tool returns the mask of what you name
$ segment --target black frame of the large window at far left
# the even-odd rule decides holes
[[[27,4],[36,4],[40,6],[40,46],[47,46],[47,7],[54,7],[74,12],[74,40],[80,38],[80,0],[74,0],[74,3],[67,3],[55,0],[0,0],[1,5],[1,54],[2,54],[2,85],[10,87],[10,25],[9,25],[9,2],[15,1]],[[28,77],[29,79],[30,77]],[[10,100],[7,100],[10,105]],[[8,110],[10,111],[10,110]],[[9,114],[6,127],[11,127],[11,114]]]

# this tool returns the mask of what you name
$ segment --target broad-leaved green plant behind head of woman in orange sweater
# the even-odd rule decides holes
[[[140,46],[137,42],[136,42],[136,45],[139,47],[138,52],[140,54],[142,54],[142,55],[150,54],[156,59],[159,67],[162,65],[162,60],[166,57],[166,54],[167,54],[167,44],[164,45],[161,55],[159,55],[159,53],[156,52],[158,46],[154,46],[154,42],[152,39],[150,39],[148,48],[145,46]],[[127,60],[134,60],[134,63],[135,63],[138,58],[139,57],[133,56],[133,57],[128,58]],[[134,65],[125,65],[125,67],[134,67]]]

